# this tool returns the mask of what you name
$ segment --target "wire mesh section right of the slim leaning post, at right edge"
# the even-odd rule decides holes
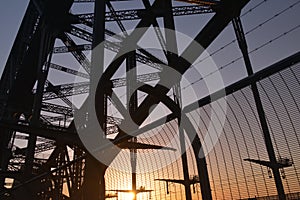
[[[294,66],[259,82],[276,156],[293,162],[281,170],[286,193],[300,188],[299,73]]]

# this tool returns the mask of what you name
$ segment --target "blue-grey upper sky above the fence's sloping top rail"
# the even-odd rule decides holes
[[[262,0],[252,0],[250,3],[244,8],[244,12],[257,5]],[[23,18],[25,9],[28,4],[28,0],[1,0],[0,2],[0,73],[5,66],[7,57],[11,50],[13,41],[17,34],[19,25]],[[136,0],[133,1],[137,2]],[[297,0],[268,0],[263,5],[259,6],[253,12],[250,12],[245,17],[242,18],[244,30],[247,32],[268,18],[274,16],[276,13],[280,13],[285,8],[288,8],[291,4],[298,2]],[[125,9],[128,9],[128,5],[126,3],[121,3]],[[249,50],[255,49],[257,46],[267,42],[268,40],[280,35],[281,33],[290,30],[291,28],[297,26],[299,24],[300,18],[300,4],[296,4],[293,8],[288,9],[280,16],[276,17],[274,20],[269,21],[266,25],[258,28],[253,33],[248,34],[247,40],[249,43]],[[194,28],[197,26],[198,20],[197,16],[191,17],[190,21],[192,23],[186,23],[187,17],[180,17],[177,19],[177,30],[182,31],[183,33],[187,33],[193,37],[199,29]],[[199,23],[200,24],[200,23]],[[232,34],[232,26],[228,26],[222,34],[215,40],[215,42],[208,49],[209,52],[213,52],[214,50],[220,48],[222,45],[232,41],[234,36]],[[285,37],[280,38],[279,40],[272,42],[271,45],[267,45],[261,50],[254,52],[251,55],[253,66],[256,70],[261,69],[264,66],[267,66],[279,59],[282,59],[288,55],[291,55],[294,52],[297,52],[300,49],[300,28],[288,34]],[[235,58],[236,44],[227,49],[226,54],[224,52],[216,55],[214,57],[218,66],[224,65],[226,61],[231,61]],[[234,49],[233,49],[234,48]],[[231,55],[228,54],[231,52]],[[228,56],[228,55],[229,56]],[[227,59],[223,59],[227,57]],[[236,80],[237,77],[232,77],[232,70],[234,70],[235,74],[244,74],[241,69],[236,71],[235,67],[229,67],[231,70],[227,72],[224,71],[224,78],[226,80]],[[242,75],[243,76],[243,75]],[[231,82],[231,81],[229,81]],[[228,82],[228,83],[229,83]]]

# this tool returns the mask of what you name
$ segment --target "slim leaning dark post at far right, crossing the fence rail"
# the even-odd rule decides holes
[[[241,49],[241,52],[243,54],[244,57],[244,62],[245,62],[245,66],[247,69],[247,73],[248,75],[252,75],[253,74],[253,68],[251,65],[251,61],[249,58],[249,53],[248,53],[248,47],[247,47],[247,41],[244,35],[244,31],[243,31],[243,27],[242,27],[242,23],[240,20],[240,17],[235,17],[232,21],[233,23],[233,27],[234,27],[234,31],[238,40],[238,44],[239,47]],[[254,100],[255,100],[255,104],[256,104],[256,109],[257,109],[257,113],[258,113],[258,117],[260,120],[260,124],[263,130],[263,135],[264,135],[264,139],[265,139],[265,145],[267,148],[267,152],[268,152],[268,156],[271,162],[271,165],[274,166],[272,167],[272,171],[274,174],[274,179],[275,179],[275,184],[276,184],[276,188],[277,188],[277,192],[278,192],[278,196],[280,200],[285,200],[285,193],[284,193],[284,188],[282,185],[282,180],[280,177],[280,172],[279,172],[279,168],[277,166],[277,160],[276,160],[276,156],[275,156],[275,151],[274,151],[274,147],[272,144],[272,139],[271,139],[271,135],[270,135],[270,131],[269,131],[269,127],[266,121],[266,116],[265,116],[265,112],[264,112],[264,108],[260,99],[260,95],[259,95],[259,91],[257,88],[256,83],[252,83],[251,84],[251,89],[252,89],[252,93],[254,96]]]

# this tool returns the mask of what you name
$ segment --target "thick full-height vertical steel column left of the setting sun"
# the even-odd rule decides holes
[[[90,70],[90,96],[96,92],[99,76],[103,72],[104,65],[104,47],[95,48],[104,41],[105,34],[105,1],[95,0],[94,4],[94,24],[93,24],[93,42],[92,42],[92,66]],[[103,113],[102,121],[106,118],[106,98],[104,92],[101,92],[101,100],[97,106]],[[88,99],[90,101],[90,99]],[[88,125],[89,126],[89,125]],[[105,129],[106,124],[101,124]],[[100,131],[100,130],[99,130]],[[105,180],[104,175],[107,166],[97,161],[92,155],[87,155],[83,193],[87,200],[105,200]]]

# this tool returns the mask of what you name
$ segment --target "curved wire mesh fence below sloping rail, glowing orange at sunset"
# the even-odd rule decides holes
[[[300,69],[298,65],[285,69],[257,82],[261,101],[266,113],[272,142],[276,152],[277,162],[292,161],[292,165],[280,168],[287,199],[299,198],[299,91]],[[213,134],[221,120],[211,121],[211,115],[219,108],[220,101],[226,100],[226,109],[221,109],[226,115],[220,134],[214,148],[206,157],[209,180],[213,199],[278,199],[277,190],[269,167],[246,161],[255,159],[269,161],[265,147],[264,136],[260,126],[255,101],[251,87],[245,87],[211,104],[207,104],[187,114],[203,141],[206,134]],[[212,106],[214,104],[214,106]],[[219,107],[218,107],[219,106]],[[216,109],[218,107],[218,109]],[[197,174],[196,158],[190,147],[187,134],[185,136],[188,157],[188,169],[182,168],[180,141],[176,120],[165,123],[138,137],[138,141],[163,146],[170,145],[175,140],[174,151],[142,150],[137,154],[139,170],[157,167],[154,171],[137,173],[138,187],[143,186],[149,193],[140,193],[138,199],[184,199],[185,192],[182,184],[157,181],[155,179],[182,180],[183,170],[188,170],[191,176]],[[175,139],[174,139],[175,138]],[[175,144],[175,145],[174,145]],[[204,148],[206,144],[203,143]],[[129,150],[124,150],[129,151]],[[107,188],[131,188],[131,169],[129,154],[122,154],[117,163],[128,163],[127,172],[109,168]],[[175,161],[160,168],[160,164],[176,157]],[[151,168],[150,167],[150,168]],[[144,168],[144,169],[143,169]],[[125,169],[125,168],[124,168]],[[201,178],[201,174],[199,174]],[[117,181],[118,180],[118,181]],[[201,199],[199,183],[191,184],[193,199]],[[126,197],[126,195],[124,195]],[[125,198],[122,194],[119,197]]]

